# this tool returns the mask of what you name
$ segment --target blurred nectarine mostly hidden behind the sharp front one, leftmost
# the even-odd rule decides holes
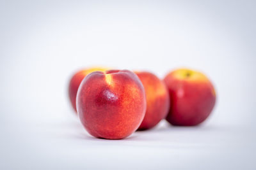
[[[75,111],[76,110],[76,94],[77,94],[77,90],[78,87],[81,83],[81,81],[84,79],[84,77],[90,73],[92,73],[93,71],[106,71],[108,69],[103,68],[103,67],[92,67],[92,68],[88,68],[88,69],[83,69],[81,71],[78,71],[76,74],[74,74],[69,82],[68,85],[68,96],[70,99],[70,102],[74,108]]]

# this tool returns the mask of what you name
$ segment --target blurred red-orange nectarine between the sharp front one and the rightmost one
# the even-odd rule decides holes
[[[140,78],[147,98],[147,110],[139,131],[155,127],[168,114],[170,97],[166,85],[155,74],[135,72]]]

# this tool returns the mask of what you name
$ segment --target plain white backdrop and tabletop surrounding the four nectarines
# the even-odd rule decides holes
[[[255,1],[0,1],[0,169],[255,169]],[[88,66],[204,72],[198,127],[84,131],[67,97]]]

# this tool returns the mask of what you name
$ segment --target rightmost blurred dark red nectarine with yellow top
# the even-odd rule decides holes
[[[211,81],[191,69],[177,69],[164,78],[170,94],[166,120],[172,125],[198,125],[211,113],[216,94]]]

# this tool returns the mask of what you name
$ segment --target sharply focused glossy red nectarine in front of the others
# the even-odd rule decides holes
[[[128,70],[95,71],[77,92],[77,111],[96,138],[122,139],[138,129],[147,107],[143,85]]]

